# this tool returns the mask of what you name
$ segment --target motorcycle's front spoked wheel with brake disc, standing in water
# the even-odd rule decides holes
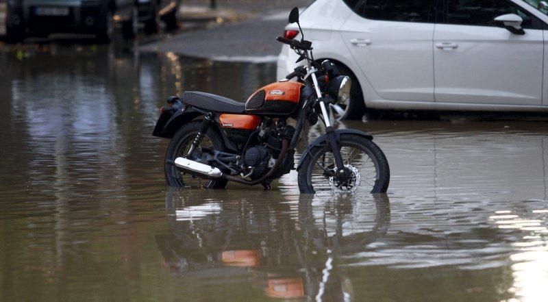
[[[301,192],[316,194],[386,192],[390,182],[390,168],[381,149],[371,140],[353,135],[342,135],[339,144],[345,173],[343,175],[336,173],[331,147],[316,147],[306,155],[299,171]]]

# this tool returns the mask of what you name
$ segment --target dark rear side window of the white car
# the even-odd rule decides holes
[[[344,0],[356,14],[368,19],[434,23],[434,0]]]

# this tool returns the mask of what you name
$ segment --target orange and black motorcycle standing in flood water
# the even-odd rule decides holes
[[[288,21],[301,29],[297,8]],[[306,60],[306,65],[260,88],[247,102],[194,91],[167,99],[153,136],[171,139],[164,161],[168,186],[201,186],[206,180],[204,188],[225,188],[234,181],[268,190],[272,181],[296,169],[301,193],[386,192],[390,168],[373,136],[336,130],[329,120],[329,110],[348,102],[351,78],[329,60],[316,62],[312,42],[303,34],[300,41],[277,40],[299,55],[296,64]],[[295,127],[289,118],[297,122]],[[305,124],[319,120],[325,134],[308,145],[295,167],[295,147]]]

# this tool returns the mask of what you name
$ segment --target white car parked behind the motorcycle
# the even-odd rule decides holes
[[[315,60],[351,76],[340,118],[365,108],[546,111],[547,2],[317,0],[300,20]],[[285,36],[301,38],[297,24]],[[297,58],[284,45],[279,79]]]

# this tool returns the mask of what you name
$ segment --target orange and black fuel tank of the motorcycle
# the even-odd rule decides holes
[[[279,81],[257,90],[245,103],[246,112],[287,115],[299,105],[301,88],[297,81]]]

